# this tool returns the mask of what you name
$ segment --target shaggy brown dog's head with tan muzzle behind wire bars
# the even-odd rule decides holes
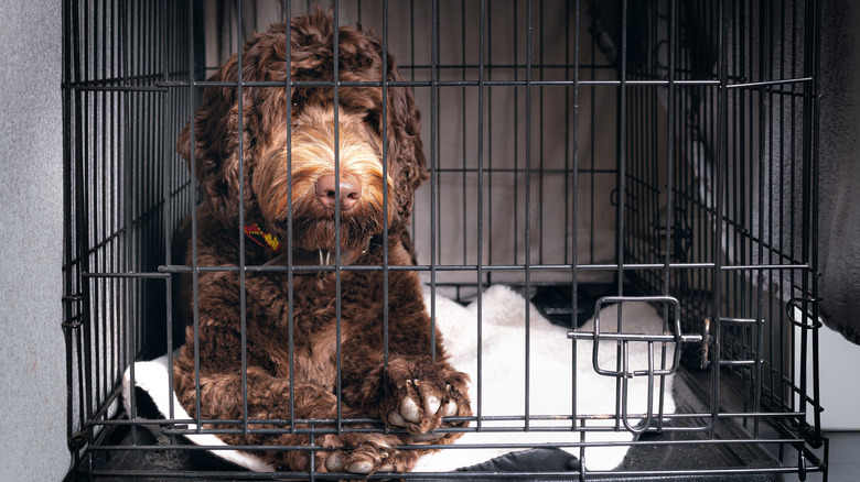
[[[295,18],[289,34],[290,78],[331,81],[331,13]],[[226,226],[238,223],[240,178],[246,223],[261,222],[287,240],[292,222],[295,248],[333,250],[336,217],[342,248],[366,243],[386,223],[389,235],[399,237],[408,224],[413,191],[427,178],[411,89],[387,87],[383,94],[384,77],[404,78],[390,55],[383,62],[381,41],[373,33],[342,26],[337,41],[337,79],[376,85],[340,86],[336,105],[332,86],[251,85],[240,97],[235,85],[205,89],[193,123],[195,174],[205,202]],[[241,80],[286,81],[287,54],[286,25],[255,35],[243,50]],[[236,83],[238,69],[234,55],[208,80]],[[191,163],[190,128],[180,134],[178,151]]]

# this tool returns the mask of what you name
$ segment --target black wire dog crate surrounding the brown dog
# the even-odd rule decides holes
[[[133,381],[136,361],[184,338],[171,293],[191,267],[172,237],[200,194],[176,136],[207,76],[244,39],[315,3],[63,2],[71,480],[323,475],[232,467],[209,453],[223,447],[184,439],[200,420],[172,409],[141,416],[151,402],[133,390],[135,413],[122,408],[123,374]],[[471,303],[484,327],[484,369],[473,380],[483,396],[472,399],[470,430],[503,434],[503,449],[565,448],[582,462],[405,479],[826,476],[816,364],[819,2],[331,7],[341,24],[383,37],[422,112],[430,179],[412,218],[415,270],[434,318],[447,316],[443,298]],[[490,336],[482,317],[495,285],[524,299],[516,329],[525,342],[514,351],[523,352],[526,399],[508,418],[482,410],[494,393],[480,337]],[[621,311],[642,303],[662,320],[658,332],[623,329]],[[604,326],[617,319],[614,332],[581,327],[602,315]],[[553,392],[571,407],[565,413],[529,408],[529,380],[539,377],[531,362],[544,347],[538,317],[563,327],[572,353],[560,374],[572,391]],[[600,340],[614,363],[596,353],[578,363],[577,350],[596,351]],[[645,368],[627,366],[636,343],[649,350]],[[591,396],[577,381],[583,371],[605,375],[600,413],[581,412]],[[633,379],[645,382],[645,415],[627,409]],[[668,396],[674,410],[664,409]],[[529,431],[570,437],[517,443]],[[630,437],[587,437],[608,431]],[[593,470],[592,447],[625,452]]]

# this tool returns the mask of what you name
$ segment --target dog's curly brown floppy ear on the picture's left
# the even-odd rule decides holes
[[[236,69],[237,57],[233,55],[208,80],[236,81]],[[238,217],[239,209],[237,118],[236,88],[207,87],[193,122],[193,174],[200,182],[204,202],[226,223]],[[189,163],[189,168],[192,167],[191,127],[189,122],[176,141],[176,152]]]

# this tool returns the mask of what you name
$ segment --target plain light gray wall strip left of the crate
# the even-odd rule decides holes
[[[58,481],[62,321],[60,2],[0,0],[0,480]]]

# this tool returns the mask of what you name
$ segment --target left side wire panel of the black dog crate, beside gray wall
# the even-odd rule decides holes
[[[68,443],[76,463],[116,421],[131,360],[170,344],[158,266],[193,198],[174,154],[189,116],[187,6],[64,2]],[[182,36],[184,40],[184,35]],[[184,208],[182,208],[184,209]],[[143,322],[143,320],[160,320]]]

